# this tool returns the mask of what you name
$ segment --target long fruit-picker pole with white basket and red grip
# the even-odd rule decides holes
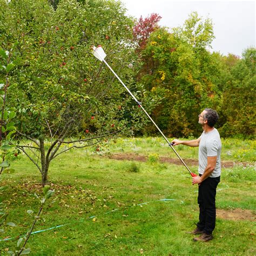
[[[138,106],[145,112],[145,114],[147,115],[147,117],[151,120],[151,122],[154,124],[154,126],[157,127],[158,131],[161,133],[161,136],[164,137],[164,139],[166,140],[166,142],[168,143],[168,145],[171,147],[171,149],[174,151],[174,153],[176,153],[177,157],[180,159],[181,163],[184,164],[184,166],[186,167],[187,171],[190,173],[190,175],[192,177],[197,176],[197,174],[193,173],[190,171],[190,169],[187,167],[187,165],[185,164],[185,162],[183,161],[183,159],[181,159],[181,157],[179,156],[178,152],[174,149],[174,147],[172,146],[173,144],[169,142],[169,140],[166,138],[166,136],[164,135],[164,133],[160,130],[160,128],[157,126],[157,124],[154,122],[154,120],[151,118],[151,116],[146,112],[146,110],[144,109],[144,107],[142,106],[142,103],[140,103],[136,97],[131,93],[131,91],[127,88],[127,86],[123,83],[123,81],[118,77],[118,75],[116,74],[116,72],[114,72],[111,68],[111,66],[109,64],[107,64],[105,57],[106,57],[106,53],[104,52],[104,50],[102,49],[102,46],[98,46],[97,48],[95,46],[93,46],[93,55],[99,59],[101,62],[104,62],[107,66],[107,68],[109,68],[112,73],[114,74],[114,76],[117,77],[117,79],[119,80],[119,82],[125,87],[125,89],[130,93],[130,95],[132,96],[132,98],[136,101],[136,103],[138,104]]]

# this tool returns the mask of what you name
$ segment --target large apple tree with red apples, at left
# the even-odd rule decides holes
[[[119,2],[106,0],[63,0],[56,10],[46,0],[1,5],[1,45],[15,43],[8,104],[17,110],[18,147],[45,185],[50,162],[60,153],[99,149],[103,138],[141,125],[138,107],[91,53],[92,45],[102,45],[112,68],[150,106],[148,92],[132,78],[133,21]]]

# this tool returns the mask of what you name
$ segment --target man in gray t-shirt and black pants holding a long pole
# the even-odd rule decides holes
[[[221,141],[218,130],[213,127],[219,119],[218,113],[212,109],[205,109],[198,118],[198,123],[204,130],[201,136],[194,140],[174,139],[173,146],[199,146],[199,176],[192,179],[192,184],[198,184],[199,222],[197,228],[190,233],[200,234],[200,237],[193,238],[194,241],[206,242],[213,239],[212,232],[215,228],[215,196],[220,182]]]

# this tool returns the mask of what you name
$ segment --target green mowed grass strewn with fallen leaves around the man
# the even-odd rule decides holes
[[[145,156],[170,156],[166,151],[171,149],[162,146],[162,141],[156,143],[158,139],[120,139],[97,153],[95,149],[72,150],[56,158],[49,171],[56,201],[44,208],[34,231],[68,225],[31,235],[26,246],[31,255],[255,255],[253,218],[217,218],[214,240],[203,244],[192,241],[193,235],[186,232],[198,220],[197,186],[191,185],[184,166],[161,164],[157,158],[139,163],[100,156],[107,149],[132,152],[132,145]],[[233,146],[228,150],[234,154],[242,149],[230,144]],[[123,150],[118,150],[120,147]],[[177,150],[182,157],[197,158],[194,149],[180,146]],[[217,208],[256,213],[255,167],[250,158],[246,161],[250,164],[223,169]],[[26,211],[38,211],[39,202],[33,194],[42,194],[40,173],[25,156],[19,156],[12,167],[15,173],[3,174],[3,184],[9,189],[1,197],[9,211],[7,220],[16,227],[6,226],[1,238],[16,238],[28,231],[35,214]],[[191,169],[197,172],[196,166]],[[14,250],[16,244],[15,239],[1,241],[1,253]]]

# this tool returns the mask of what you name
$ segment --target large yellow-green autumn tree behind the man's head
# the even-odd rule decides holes
[[[221,106],[218,58],[206,50],[214,38],[210,19],[196,13],[170,33],[154,30],[142,51],[143,67],[138,78],[147,89],[161,95],[154,118],[170,136],[200,134],[198,113],[204,107]],[[194,32],[196,31],[196,32]],[[195,41],[191,38],[195,38]],[[154,131],[149,126],[150,131]]]

